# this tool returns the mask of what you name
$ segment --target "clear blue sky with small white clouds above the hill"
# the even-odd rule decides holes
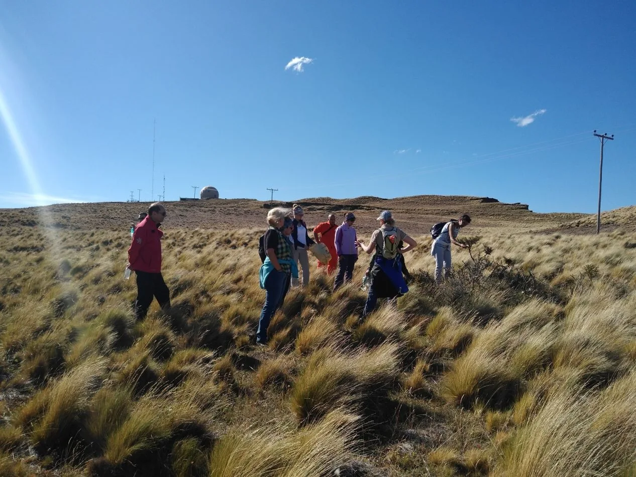
[[[616,135],[602,209],[636,204],[633,1],[0,11],[0,207],[157,200],[165,174],[167,200],[212,185],[225,198],[273,187],[283,200],[474,195],[594,212],[594,129]]]

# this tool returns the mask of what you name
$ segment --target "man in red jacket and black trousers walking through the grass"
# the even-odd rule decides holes
[[[142,320],[148,313],[153,296],[163,310],[170,308],[170,290],[161,274],[161,238],[159,226],[165,219],[165,207],[155,202],[148,207],[148,216],[135,228],[128,249],[128,266],[137,275],[135,317]]]

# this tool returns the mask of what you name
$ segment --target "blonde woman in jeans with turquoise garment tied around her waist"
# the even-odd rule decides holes
[[[289,282],[289,275],[298,277],[298,268],[291,256],[290,242],[281,232],[285,218],[289,211],[282,207],[275,207],[267,212],[267,222],[270,225],[265,232],[266,258],[261,265],[261,288],[265,289],[265,305],[261,310],[256,331],[256,343],[267,344],[267,328],[270,326],[272,315],[280,307]]]

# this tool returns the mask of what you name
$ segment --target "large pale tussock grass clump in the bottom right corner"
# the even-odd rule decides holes
[[[635,384],[632,370],[602,392],[551,396],[504,446],[495,474],[567,477],[626,472],[636,459]]]

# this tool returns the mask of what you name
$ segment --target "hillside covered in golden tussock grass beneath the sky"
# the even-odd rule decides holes
[[[488,198],[307,198],[310,226],[382,209],[418,241],[397,307],[360,324],[312,263],[252,345],[268,204],[166,204],[172,310],[135,322],[128,229],[147,204],[0,211],[0,475],[629,476],[636,207],[535,214]],[[428,230],[468,212],[455,270]],[[315,262],[315,260],[312,260]]]

